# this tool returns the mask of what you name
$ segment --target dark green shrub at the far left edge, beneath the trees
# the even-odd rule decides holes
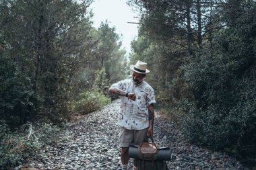
[[[34,117],[36,95],[30,79],[9,59],[7,44],[3,43],[0,48],[3,49],[0,51],[0,120],[7,120],[13,127]]]

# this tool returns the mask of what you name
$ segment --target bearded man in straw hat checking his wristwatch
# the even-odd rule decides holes
[[[130,67],[132,78],[119,81],[109,88],[110,93],[121,96],[121,110],[119,111],[119,147],[121,147],[122,169],[128,169],[129,144],[139,144],[148,141],[153,136],[154,103],[156,103],[154,89],[143,81],[147,63],[140,60]],[[133,169],[136,169],[135,161]]]

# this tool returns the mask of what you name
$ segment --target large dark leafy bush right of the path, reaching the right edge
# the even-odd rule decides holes
[[[181,127],[197,144],[236,148],[236,154],[251,160],[256,148],[255,81],[240,79],[235,73],[239,70],[236,62],[226,59],[194,58],[195,62],[185,67],[185,79],[194,98],[181,101]]]

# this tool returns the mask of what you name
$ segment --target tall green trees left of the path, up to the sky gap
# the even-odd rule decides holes
[[[90,3],[0,1],[1,119],[13,126],[38,118],[59,123],[95,79],[104,91],[125,76],[119,35],[107,23],[92,27]],[[96,74],[103,68],[106,75]]]

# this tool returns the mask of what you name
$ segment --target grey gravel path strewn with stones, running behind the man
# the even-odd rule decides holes
[[[46,148],[43,159],[31,160],[22,169],[118,169],[121,164],[117,126],[119,105],[120,100],[113,101],[102,110],[70,124],[61,134],[69,136],[70,140]],[[154,123],[154,140],[160,146],[172,148],[169,169],[247,169],[225,153],[185,143],[174,125],[159,114]]]

